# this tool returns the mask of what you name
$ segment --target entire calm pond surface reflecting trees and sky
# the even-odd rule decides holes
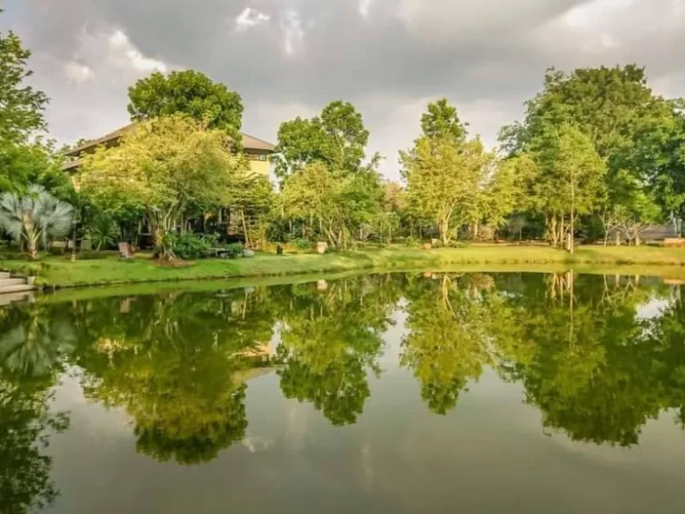
[[[2,512],[685,511],[656,279],[40,296],[0,310],[0,366]]]

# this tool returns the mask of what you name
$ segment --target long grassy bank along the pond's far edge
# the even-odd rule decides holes
[[[0,261],[0,268],[21,270],[25,261]],[[440,250],[404,247],[348,253],[258,254],[235,261],[206,260],[168,268],[147,258],[70,262],[68,257],[45,257],[37,284],[52,287],[100,286],[208,278],[252,278],[342,272],[355,269],[463,269],[489,271],[620,272],[685,278],[685,249],[585,246],[574,255],[541,246],[469,246]],[[630,269],[630,272],[628,271]]]

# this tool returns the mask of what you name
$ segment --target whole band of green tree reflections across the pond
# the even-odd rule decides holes
[[[650,302],[654,316],[638,315]],[[333,426],[356,423],[382,377],[385,335],[406,315],[397,365],[427,410],[447,415],[486,369],[520,384],[546,432],[638,444],[664,410],[685,426],[681,286],[560,275],[376,275],[320,284],[36,303],[0,311],[0,498],[52,502],[45,447],[67,414],[63,373],[132,420],[136,450],[200,464],[243,440],[251,377]],[[75,373],[73,369],[78,369]]]

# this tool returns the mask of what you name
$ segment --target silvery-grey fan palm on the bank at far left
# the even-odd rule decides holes
[[[29,187],[25,196],[5,193],[0,196],[0,228],[21,243],[26,242],[31,259],[36,259],[38,243],[47,245],[48,237],[69,233],[74,208],[50,195],[41,186]]]

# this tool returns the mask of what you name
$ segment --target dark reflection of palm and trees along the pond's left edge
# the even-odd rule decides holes
[[[69,426],[50,403],[73,334],[59,310],[36,304],[0,310],[0,334],[0,511],[22,514],[58,494],[45,450]]]

